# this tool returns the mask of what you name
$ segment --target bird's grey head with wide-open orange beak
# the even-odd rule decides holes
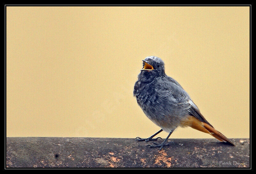
[[[156,56],[146,57],[143,61],[143,68],[140,70],[139,79],[145,82],[164,76],[164,62]]]

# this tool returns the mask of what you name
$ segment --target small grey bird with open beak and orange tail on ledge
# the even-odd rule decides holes
[[[161,58],[148,56],[142,60],[142,64],[143,68],[134,84],[133,96],[145,115],[161,129],[148,138],[136,137],[136,141],[157,141],[162,139],[154,138],[157,134],[168,132],[162,143],[151,142],[151,145],[147,145],[150,148],[160,147],[161,150],[170,144],[168,138],[177,127],[192,127],[235,146],[204,118],[181,85],[165,74]]]

